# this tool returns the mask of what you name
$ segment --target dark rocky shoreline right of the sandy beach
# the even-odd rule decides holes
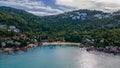
[[[89,45],[79,45],[79,48],[85,49],[86,51],[98,51],[108,54],[120,55],[120,47],[119,46],[105,46],[105,47],[95,47]]]

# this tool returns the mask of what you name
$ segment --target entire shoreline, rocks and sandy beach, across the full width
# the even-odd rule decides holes
[[[46,45],[77,45],[81,49],[85,49],[86,51],[98,51],[104,52],[108,54],[120,55],[120,47],[118,46],[105,46],[105,47],[95,47],[90,45],[84,45],[81,43],[74,42],[41,42],[36,44],[28,44],[25,47],[11,47],[11,48],[0,48],[0,53],[13,54],[13,52],[25,52],[30,50],[31,48],[38,46],[46,46]]]

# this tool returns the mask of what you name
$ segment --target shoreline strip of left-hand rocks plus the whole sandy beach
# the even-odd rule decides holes
[[[35,44],[28,44],[24,47],[6,47],[0,48],[0,53],[6,54],[13,54],[13,52],[20,52],[23,53],[25,51],[30,50],[31,48],[38,47],[38,46],[46,46],[46,45],[77,45],[79,46],[81,43],[74,43],[74,42],[38,42]]]

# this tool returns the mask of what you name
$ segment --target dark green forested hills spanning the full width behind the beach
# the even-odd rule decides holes
[[[120,12],[77,10],[38,17],[24,10],[0,7],[0,25],[14,25],[40,41],[82,42],[90,45],[120,45]]]

